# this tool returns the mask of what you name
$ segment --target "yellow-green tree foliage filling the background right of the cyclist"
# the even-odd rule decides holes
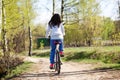
[[[64,9],[66,46],[86,45],[88,41],[100,46],[102,40],[119,40],[119,21],[99,16],[101,10],[96,0],[66,0]]]

